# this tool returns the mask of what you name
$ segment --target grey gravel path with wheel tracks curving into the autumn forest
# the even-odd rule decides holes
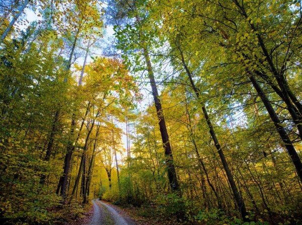
[[[108,203],[98,199],[92,200],[94,214],[90,225],[135,225],[127,217],[122,216]]]

